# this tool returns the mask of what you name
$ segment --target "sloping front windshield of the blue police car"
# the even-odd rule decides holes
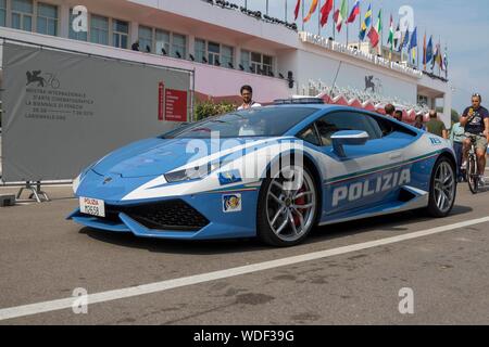
[[[161,136],[163,139],[280,137],[317,110],[312,107],[255,107],[184,125]]]

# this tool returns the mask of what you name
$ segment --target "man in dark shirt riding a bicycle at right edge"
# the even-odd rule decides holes
[[[460,124],[465,128],[462,169],[467,167],[467,155],[471,149],[471,138],[476,139],[477,166],[479,167],[479,180],[484,185],[484,171],[486,169],[486,151],[489,139],[489,112],[480,103],[480,94],[472,95],[472,107],[465,108],[460,117]]]

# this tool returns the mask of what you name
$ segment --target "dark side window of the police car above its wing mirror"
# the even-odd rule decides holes
[[[355,112],[335,112],[316,121],[323,145],[331,145],[331,136],[337,131],[359,130],[366,131],[369,140],[381,138],[378,124],[365,114]]]

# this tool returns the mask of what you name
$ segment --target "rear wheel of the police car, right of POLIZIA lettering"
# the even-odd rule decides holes
[[[435,164],[430,187],[428,215],[436,218],[447,217],[453,208],[456,195],[455,168],[444,156]]]

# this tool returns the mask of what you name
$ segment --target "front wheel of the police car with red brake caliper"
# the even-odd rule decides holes
[[[263,180],[256,210],[260,240],[278,247],[301,243],[315,224],[318,196],[314,178],[305,167],[292,164]]]

